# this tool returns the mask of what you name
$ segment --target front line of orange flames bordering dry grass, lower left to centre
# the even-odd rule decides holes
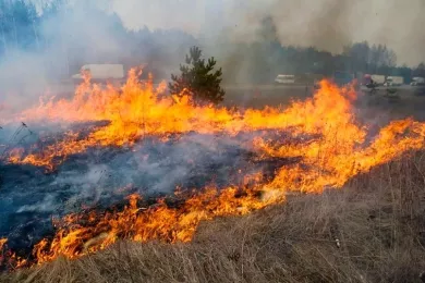
[[[119,238],[137,242],[161,241],[167,243],[189,242],[201,221],[223,216],[242,216],[284,200],[284,195],[275,194],[259,198],[260,192],[229,187],[222,190],[210,187],[195,194],[183,205],[172,208],[165,200],[142,210],[138,195],[129,197],[129,206],[120,212],[105,214],[75,214],[69,217],[54,238],[41,241],[34,247],[38,263],[60,255],[75,258],[102,249]],[[84,223],[82,225],[81,223]]]

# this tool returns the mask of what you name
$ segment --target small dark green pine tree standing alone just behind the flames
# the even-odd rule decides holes
[[[195,103],[219,103],[224,98],[224,90],[221,88],[221,67],[214,71],[216,60],[214,57],[206,62],[202,59],[202,50],[194,46],[186,54],[184,65],[180,65],[181,74],[171,75],[169,84],[171,94],[189,95]]]

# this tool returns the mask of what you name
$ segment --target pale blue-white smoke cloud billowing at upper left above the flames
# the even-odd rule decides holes
[[[4,44],[0,58],[0,106],[19,111],[37,103],[42,95],[71,95],[75,87],[71,76],[88,63],[122,63],[125,70],[146,63],[179,66],[184,58],[179,50],[189,48],[190,44],[184,44],[190,41],[189,35],[175,32],[153,36],[150,30],[129,30],[118,15],[108,13],[99,3],[70,1],[56,12],[38,5],[40,23],[25,29],[35,35],[32,48],[15,44],[13,36],[26,22],[16,20],[10,38],[1,38],[0,30],[0,49]],[[170,60],[177,60],[175,53],[180,54],[179,61]],[[0,109],[0,115],[1,112],[4,111]]]

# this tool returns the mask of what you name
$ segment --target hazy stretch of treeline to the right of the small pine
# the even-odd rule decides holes
[[[240,44],[228,58],[228,64],[223,67],[228,78],[233,76],[232,81],[270,83],[277,74],[312,73],[331,76],[336,71],[355,75],[403,76],[406,83],[412,76],[425,77],[424,63],[413,69],[397,65],[394,51],[385,45],[354,42],[344,46],[339,54],[315,47],[282,46],[276,26],[269,17],[263,21],[257,38],[255,42]]]

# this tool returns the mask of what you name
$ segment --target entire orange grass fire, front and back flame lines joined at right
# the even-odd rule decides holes
[[[101,89],[89,83],[78,87],[71,100],[50,100],[23,112],[33,121],[108,121],[89,133],[68,133],[47,147],[14,149],[9,162],[34,164],[52,170],[66,157],[95,146],[134,145],[144,136],[166,138],[191,131],[236,135],[241,132],[276,131],[276,137],[260,134],[252,140],[263,158],[300,158],[296,164],[280,168],[272,180],[262,174],[246,176],[244,184],[218,189],[214,186],[180,199],[170,206],[159,199],[156,206],[141,207],[142,197],[132,195],[121,211],[77,213],[60,221],[56,235],[34,246],[35,262],[69,258],[106,248],[120,238],[137,242],[189,242],[201,221],[223,216],[242,216],[286,200],[291,190],[320,193],[341,188],[351,177],[367,172],[411,150],[424,148],[425,124],[411,119],[394,121],[366,140],[367,125],[355,120],[352,101],[355,91],[321,82],[320,89],[305,101],[293,101],[283,110],[266,108],[231,111],[212,106],[195,106],[187,96],[167,97],[161,86],[154,89],[137,81],[132,70],[126,84]],[[284,137],[282,135],[284,133]],[[251,185],[250,185],[251,184]],[[0,241],[0,247],[5,239]]]

